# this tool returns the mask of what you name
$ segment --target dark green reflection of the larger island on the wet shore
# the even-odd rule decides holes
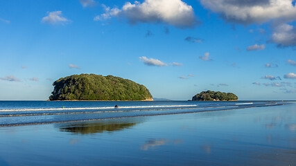
[[[87,124],[68,124],[65,127],[60,127],[60,131],[72,133],[103,133],[104,131],[119,131],[128,129],[134,126],[135,122],[130,123],[87,123]]]

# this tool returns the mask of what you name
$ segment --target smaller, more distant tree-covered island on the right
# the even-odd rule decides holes
[[[192,101],[236,101],[238,97],[234,93],[220,91],[202,91],[192,97]]]

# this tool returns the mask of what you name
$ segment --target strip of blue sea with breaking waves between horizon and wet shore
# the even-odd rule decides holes
[[[13,104],[15,103],[15,104]],[[114,108],[119,104],[119,108]],[[0,127],[267,107],[285,102],[0,102]]]

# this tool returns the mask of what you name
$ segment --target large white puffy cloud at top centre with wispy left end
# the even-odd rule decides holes
[[[178,28],[188,28],[198,24],[193,8],[181,0],[125,2],[121,9],[105,7],[105,13],[96,16],[94,20],[110,19],[111,17],[128,19],[130,24],[164,23]]]

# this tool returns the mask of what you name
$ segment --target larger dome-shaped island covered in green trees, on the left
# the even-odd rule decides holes
[[[112,75],[70,75],[53,86],[49,100],[153,100],[146,86]]]

